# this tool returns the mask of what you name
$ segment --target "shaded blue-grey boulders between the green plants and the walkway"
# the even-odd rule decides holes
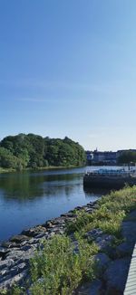
[[[100,252],[94,256],[97,262],[97,279],[84,283],[75,294],[123,295],[130,268],[131,254],[136,243],[136,210],[128,214],[121,224],[121,243],[112,246],[114,237],[100,229],[86,233],[98,244]],[[131,294],[131,293],[130,293]]]

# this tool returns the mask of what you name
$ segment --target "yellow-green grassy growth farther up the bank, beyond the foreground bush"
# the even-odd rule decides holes
[[[67,224],[67,234],[79,232],[81,236],[93,228],[121,238],[121,222],[132,209],[136,208],[136,186],[111,192],[97,202],[98,208],[92,214],[77,213],[73,223]]]

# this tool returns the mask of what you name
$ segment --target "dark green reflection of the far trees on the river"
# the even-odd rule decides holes
[[[24,202],[44,195],[73,194],[74,186],[83,183],[83,175],[11,174],[0,177],[0,191],[6,201]]]

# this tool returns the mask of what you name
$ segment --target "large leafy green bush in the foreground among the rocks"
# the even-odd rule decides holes
[[[33,295],[70,295],[84,278],[93,278],[92,254],[97,247],[78,237],[79,252],[75,253],[69,237],[55,235],[44,242],[44,249],[31,260]]]

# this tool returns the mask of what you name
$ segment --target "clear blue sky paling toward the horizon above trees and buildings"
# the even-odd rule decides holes
[[[136,147],[136,1],[0,1],[0,138]]]

